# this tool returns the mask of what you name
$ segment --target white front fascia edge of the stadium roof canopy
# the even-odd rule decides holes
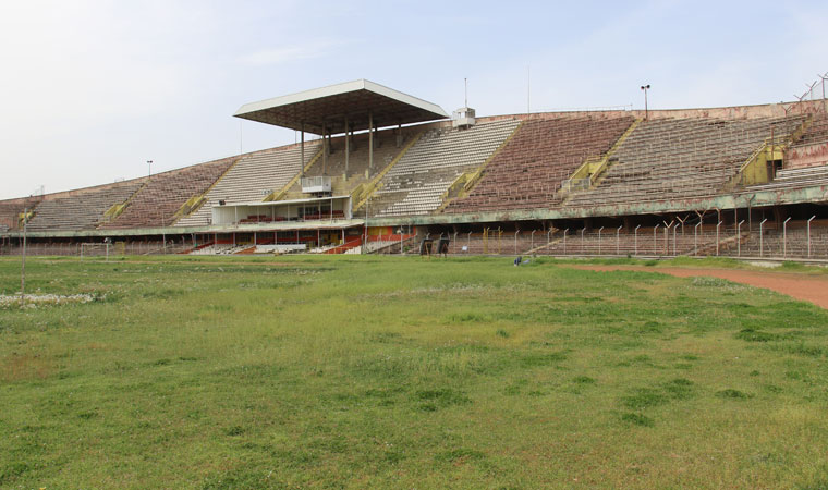
[[[440,106],[437,106],[436,103],[431,103],[426,100],[419,99],[417,97],[403,94],[402,91],[394,90],[393,88],[389,88],[389,87],[386,87],[385,85],[376,84],[365,78],[360,78],[353,82],[345,82],[341,84],[328,85],[326,87],[314,88],[310,90],[297,91],[295,94],[290,94],[287,96],[272,97],[270,99],[259,100],[258,102],[248,102],[240,107],[239,110],[236,110],[233,115],[239,117],[239,115],[246,114],[249,112],[256,112],[256,111],[260,111],[265,109],[270,109],[273,107],[287,106],[290,103],[296,103],[296,102],[301,102],[303,100],[309,100],[309,99],[318,99],[321,97],[330,97],[330,96],[345,94],[349,91],[354,91],[354,90],[360,90],[360,89],[370,90],[376,94],[400,100],[410,106],[416,106],[421,109],[435,112],[445,118],[449,117],[449,114],[447,114],[446,111],[443,111],[442,108]]]

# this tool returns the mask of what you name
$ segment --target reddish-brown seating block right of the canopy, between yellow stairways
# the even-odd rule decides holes
[[[599,156],[633,123],[633,118],[526,121],[489,162],[472,193],[446,212],[549,207],[561,182],[587,157]]]

